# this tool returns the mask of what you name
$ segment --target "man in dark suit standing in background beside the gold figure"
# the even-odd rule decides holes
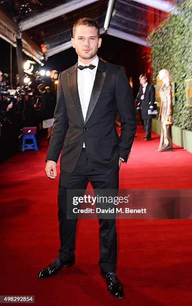
[[[145,129],[145,137],[143,140],[151,140],[151,120],[152,114],[148,114],[148,110],[154,110],[155,103],[155,88],[152,84],[147,82],[147,77],[141,74],[139,77],[141,86],[137,95],[138,105],[137,111],[141,111],[141,118],[143,121],[143,127]]]

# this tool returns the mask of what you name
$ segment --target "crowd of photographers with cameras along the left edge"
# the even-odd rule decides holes
[[[44,82],[33,88],[28,86],[8,85],[4,74],[0,72],[0,121],[1,126],[9,123],[16,116],[20,128],[24,126],[41,126],[44,120],[52,119],[56,105],[56,94]],[[49,125],[49,124],[48,124]],[[48,127],[47,124],[42,124]],[[49,132],[50,136],[50,132]]]

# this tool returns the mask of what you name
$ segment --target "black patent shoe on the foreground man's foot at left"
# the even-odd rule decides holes
[[[58,271],[64,267],[64,266],[70,266],[75,263],[75,259],[71,259],[68,261],[62,261],[60,259],[55,259],[52,263],[48,264],[46,267],[44,267],[40,272],[38,272],[37,277],[38,278],[43,278],[43,277],[48,277],[52,276]]]

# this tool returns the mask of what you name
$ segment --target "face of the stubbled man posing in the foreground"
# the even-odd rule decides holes
[[[96,27],[87,25],[77,25],[71,41],[79,60],[83,63],[92,61],[101,45],[101,38],[98,38]]]

